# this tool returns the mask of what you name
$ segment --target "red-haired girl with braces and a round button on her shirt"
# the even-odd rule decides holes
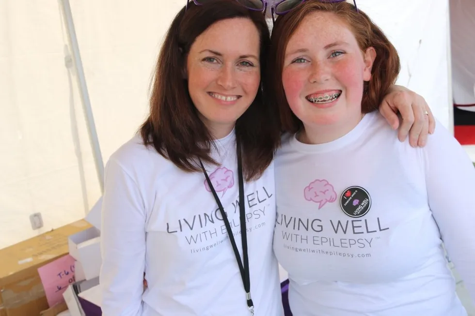
[[[289,132],[273,247],[292,313],[466,316],[443,243],[475,298],[470,159],[443,126],[424,148],[398,141],[376,110],[399,57],[356,4],[285,2],[268,101]]]

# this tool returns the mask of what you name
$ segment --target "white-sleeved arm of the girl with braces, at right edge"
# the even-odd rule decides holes
[[[442,126],[429,137],[424,152],[430,210],[447,254],[475,300],[475,167]]]

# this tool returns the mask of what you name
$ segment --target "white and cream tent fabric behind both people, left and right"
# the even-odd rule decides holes
[[[396,45],[398,84],[452,130],[449,1],[464,0],[357,3]],[[59,3],[0,1],[0,248],[83,217],[101,195]],[[160,43],[184,4],[70,0],[103,163],[145,118]],[[36,212],[44,227],[32,230]]]

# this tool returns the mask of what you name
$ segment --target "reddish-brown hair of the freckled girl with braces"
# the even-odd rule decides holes
[[[395,83],[400,70],[399,56],[382,30],[361,10],[348,2],[321,2],[307,0],[286,15],[277,18],[272,30],[271,48],[269,50],[269,69],[266,76],[268,102],[277,105],[282,128],[285,132],[296,133],[302,128],[302,122],[290,109],[282,84],[285,49],[290,37],[299,27],[305,16],[313,12],[330,12],[342,19],[352,30],[360,49],[368,47],[376,50],[376,59],[371,70],[371,80],[364,84],[362,112],[369,113],[379,108],[384,96]]]

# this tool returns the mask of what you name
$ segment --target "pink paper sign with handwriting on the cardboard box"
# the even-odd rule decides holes
[[[63,292],[76,282],[74,261],[72,256],[66,255],[38,269],[49,307],[63,302]]]

